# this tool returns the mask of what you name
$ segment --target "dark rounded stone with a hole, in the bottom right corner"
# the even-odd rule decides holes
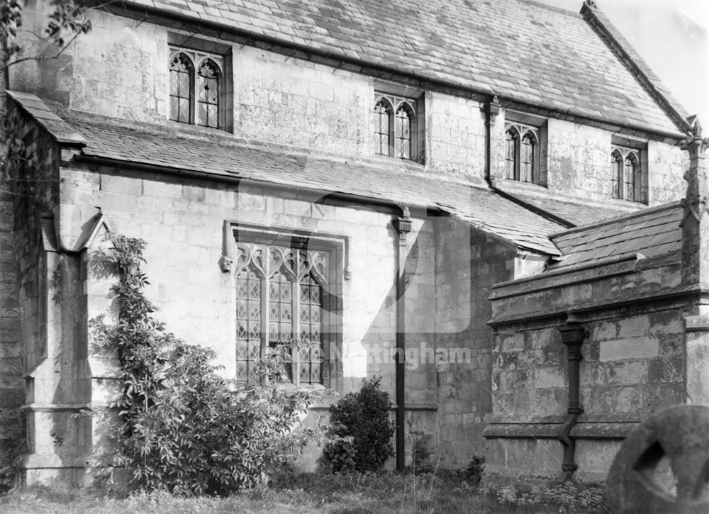
[[[668,457],[676,494],[655,472]],[[709,512],[709,406],[659,410],[632,431],[610,466],[606,506],[613,514]]]

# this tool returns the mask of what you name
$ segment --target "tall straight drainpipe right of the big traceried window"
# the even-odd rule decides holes
[[[411,232],[408,207],[402,208],[401,216],[393,219],[392,225],[398,234],[396,245],[396,469],[404,469],[404,354],[406,354],[406,235]]]

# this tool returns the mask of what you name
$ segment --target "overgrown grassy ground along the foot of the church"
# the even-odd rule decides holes
[[[476,487],[456,474],[338,474],[281,478],[270,488],[230,498],[176,498],[168,493],[14,490],[0,497],[0,513],[43,514],[596,514],[601,486],[545,486],[486,476]],[[530,504],[532,503],[532,504]],[[584,507],[582,505],[590,505]]]

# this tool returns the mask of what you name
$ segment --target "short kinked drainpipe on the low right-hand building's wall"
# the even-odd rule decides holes
[[[574,462],[576,454],[576,441],[569,437],[571,429],[576,425],[579,415],[584,412],[579,398],[579,364],[581,364],[581,343],[588,337],[588,330],[579,325],[567,321],[566,325],[559,327],[562,333],[562,342],[566,345],[566,355],[569,359],[569,407],[566,413],[566,423],[559,429],[558,439],[564,447],[564,462],[562,462],[562,472],[559,474],[559,482],[565,482],[574,476],[574,471],[579,466]]]

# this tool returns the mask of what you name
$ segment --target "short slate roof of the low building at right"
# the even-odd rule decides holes
[[[666,255],[682,247],[683,207],[679,201],[551,236],[564,258],[547,269],[592,264],[608,257]]]

